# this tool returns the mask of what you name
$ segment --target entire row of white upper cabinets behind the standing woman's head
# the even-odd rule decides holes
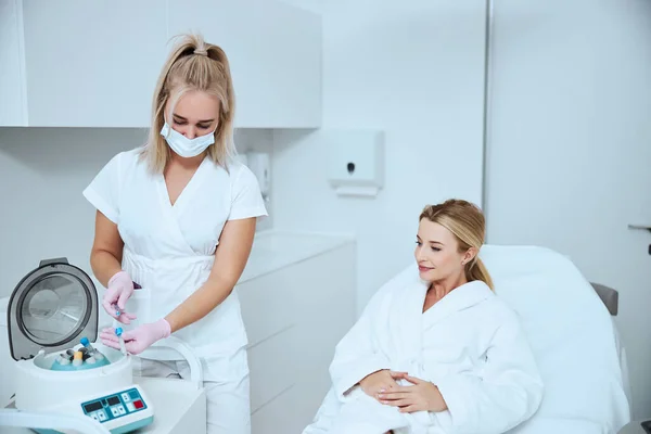
[[[320,126],[312,12],[275,0],[0,0],[0,126],[149,127],[170,39],[188,31],[229,56],[237,127]]]

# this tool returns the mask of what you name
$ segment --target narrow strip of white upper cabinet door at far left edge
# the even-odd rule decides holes
[[[0,0],[0,126],[27,125],[21,1]]]

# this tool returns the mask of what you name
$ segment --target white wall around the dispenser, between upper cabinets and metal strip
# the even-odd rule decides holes
[[[275,131],[275,226],[358,235],[358,309],[412,260],[422,207],[481,203],[484,3],[323,4],[323,130]],[[385,188],[340,199],[329,128],[385,131]],[[332,272],[324,270],[324,272]]]

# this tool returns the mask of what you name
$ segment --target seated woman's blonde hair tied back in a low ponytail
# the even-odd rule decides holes
[[[465,279],[469,282],[481,280],[494,290],[493,279],[478,257],[486,232],[486,219],[480,207],[467,201],[450,199],[438,205],[425,206],[419,221],[423,218],[452,232],[459,243],[459,253],[476,248],[475,257],[465,264]]]

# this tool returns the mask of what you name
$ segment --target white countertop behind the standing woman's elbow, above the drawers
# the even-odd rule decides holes
[[[278,230],[257,232],[239,283],[354,242],[355,238],[346,234]]]

